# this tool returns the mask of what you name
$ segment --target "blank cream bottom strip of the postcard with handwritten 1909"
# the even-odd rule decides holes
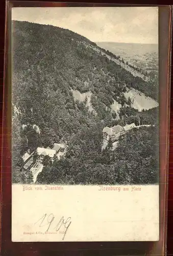
[[[12,187],[13,242],[159,240],[158,185],[23,188]]]

